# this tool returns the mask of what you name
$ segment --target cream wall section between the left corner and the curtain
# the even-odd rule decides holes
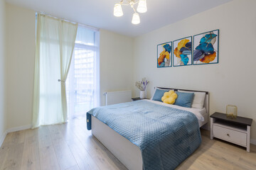
[[[8,128],[31,125],[35,37],[35,12],[6,4]]]

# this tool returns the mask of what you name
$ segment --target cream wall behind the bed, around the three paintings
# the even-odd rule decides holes
[[[134,81],[151,81],[148,96],[154,86],[209,91],[210,114],[238,106],[238,115],[254,120],[256,142],[255,8],[255,0],[234,0],[135,38]],[[219,64],[156,68],[156,45],[215,29],[220,29]],[[138,95],[134,87],[133,96]]]

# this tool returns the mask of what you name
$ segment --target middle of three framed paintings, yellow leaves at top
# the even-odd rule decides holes
[[[174,41],[174,67],[192,64],[192,36]]]

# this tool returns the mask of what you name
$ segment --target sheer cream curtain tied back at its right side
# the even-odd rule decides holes
[[[78,24],[38,13],[33,127],[67,121],[65,80]]]

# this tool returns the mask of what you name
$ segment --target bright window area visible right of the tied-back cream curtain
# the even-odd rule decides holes
[[[99,106],[99,32],[78,26],[66,81],[69,118],[85,115]]]

